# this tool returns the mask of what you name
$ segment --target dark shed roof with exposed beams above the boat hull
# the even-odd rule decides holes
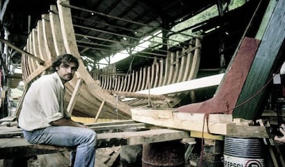
[[[55,0],[45,3],[38,0],[25,2],[21,1],[19,6],[19,2],[11,1],[9,12],[6,14],[6,16],[9,14],[17,16],[11,20],[8,27],[12,32],[11,41],[19,47],[25,45],[25,37],[28,35],[28,15],[31,16],[30,28],[33,28],[41,14],[48,12],[49,5],[56,4]],[[134,45],[134,41],[139,41],[152,32],[168,30],[179,21],[216,2],[213,0],[70,0],[70,5],[77,8],[71,7],[74,25],[84,26],[74,27],[75,32],[81,34],[76,37],[79,41],[78,49],[84,56],[97,61]],[[124,37],[129,38],[131,43],[124,44]]]

